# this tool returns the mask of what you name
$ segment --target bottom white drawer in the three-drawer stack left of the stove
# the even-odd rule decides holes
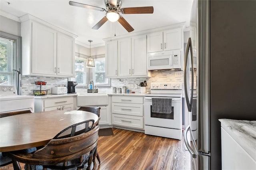
[[[143,117],[112,114],[112,124],[132,128],[144,128]]]

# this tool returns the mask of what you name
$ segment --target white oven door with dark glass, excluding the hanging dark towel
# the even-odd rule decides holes
[[[145,125],[181,129],[182,127],[182,101],[181,97],[164,97],[172,99],[172,113],[154,113],[152,112],[152,98],[163,97],[145,97]]]

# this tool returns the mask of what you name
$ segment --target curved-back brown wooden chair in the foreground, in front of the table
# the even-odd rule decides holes
[[[25,169],[79,169],[92,155],[98,144],[99,126],[93,128],[94,120],[87,120],[65,128],[43,148],[34,153],[12,151],[6,154],[12,158],[15,170],[21,170],[18,162],[25,163]],[[88,154],[90,153],[90,154]],[[88,155],[88,158],[85,158]]]

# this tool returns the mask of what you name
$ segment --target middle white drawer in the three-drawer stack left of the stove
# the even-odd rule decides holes
[[[143,116],[143,105],[134,103],[112,103],[112,113]]]

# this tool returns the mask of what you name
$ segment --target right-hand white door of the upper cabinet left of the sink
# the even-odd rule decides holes
[[[57,75],[74,77],[75,40],[58,32],[57,41]]]

